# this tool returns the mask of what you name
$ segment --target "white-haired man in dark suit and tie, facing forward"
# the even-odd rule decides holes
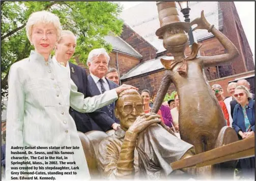
[[[105,78],[110,57],[104,48],[94,49],[88,55],[87,65],[90,75],[89,86],[93,95],[99,95],[107,90],[115,89],[119,85]],[[115,102],[101,108],[112,119],[113,129],[117,129],[120,121],[115,116]],[[115,124],[116,123],[116,124]],[[95,125],[97,126],[97,125]],[[96,128],[94,128],[95,130]],[[98,129],[96,129],[98,130]]]

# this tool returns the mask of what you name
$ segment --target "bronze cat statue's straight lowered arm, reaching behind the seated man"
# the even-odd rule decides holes
[[[159,107],[161,106],[164,96],[170,86],[170,84],[172,83],[172,80],[170,80],[170,71],[169,70],[165,70],[163,79],[161,81],[161,85],[157,91],[156,94],[156,100],[154,102],[153,108],[151,110],[151,113],[155,113],[157,114]]]

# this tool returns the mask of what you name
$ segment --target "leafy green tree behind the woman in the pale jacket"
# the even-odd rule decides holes
[[[94,48],[112,47],[104,41],[105,35],[120,35],[123,21],[117,17],[122,12],[120,4],[112,2],[3,2],[1,1],[1,96],[8,94],[10,66],[29,56],[33,49],[26,37],[25,25],[36,11],[46,10],[59,16],[62,28],[71,30],[77,37],[74,57],[86,63],[88,53]],[[2,103],[1,103],[1,107]]]

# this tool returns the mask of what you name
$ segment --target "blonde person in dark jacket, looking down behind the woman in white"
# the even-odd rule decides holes
[[[55,47],[55,56],[52,59],[67,68],[70,78],[77,86],[78,92],[83,93],[84,97],[92,97],[95,94],[91,92],[86,70],[69,62],[75,52],[75,47],[75,35],[71,31],[63,30],[61,39]],[[115,86],[115,88],[116,87],[118,86]],[[70,107],[69,113],[75,121],[77,130],[83,133],[91,130],[107,131],[112,128],[116,129],[118,126],[102,109],[93,113],[79,113]]]

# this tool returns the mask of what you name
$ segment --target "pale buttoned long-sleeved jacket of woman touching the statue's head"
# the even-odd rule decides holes
[[[65,169],[44,169],[36,170],[38,166],[56,166],[71,167],[79,166],[74,170],[77,174],[61,175],[54,174],[60,180],[68,179],[90,179],[87,161],[83,153],[81,141],[78,137],[75,122],[69,115],[69,107],[82,113],[94,112],[99,108],[108,105],[117,100],[118,96],[115,90],[106,91],[104,94],[94,97],[84,98],[84,95],[77,92],[77,87],[69,78],[67,68],[60,65],[56,61],[52,61],[49,57],[48,61],[35,51],[31,51],[30,57],[14,63],[10,68],[9,78],[9,96],[7,107],[7,131],[6,131],[6,179],[11,176],[19,176],[11,174],[11,171],[73,171]],[[79,149],[24,149],[11,150],[11,147],[78,147]],[[52,154],[34,156],[42,156],[44,160],[33,160],[31,155],[11,154],[11,151],[31,152],[74,152],[74,154]],[[20,159],[11,159],[12,156],[20,157]],[[29,157],[29,159],[24,158]],[[48,157],[48,158],[45,158]],[[65,160],[49,159],[49,156],[64,156]],[[26,162],[22,167],[32,167],[33,169],[21,169],[21,165],[17,165],[18,169],[11,169],[15,166],[13,162]],[[41,161],[44,165],[33,164],[33,161]],[[48,162],[48,164],[46,162]],[[51,164],[56,161],[57,164]],[[75,162],[72,165],[61,165],[59,162]],[[35,166],[35,167],[34,167]],[[29,176],[52,176],[52,175],[29,175]]]

